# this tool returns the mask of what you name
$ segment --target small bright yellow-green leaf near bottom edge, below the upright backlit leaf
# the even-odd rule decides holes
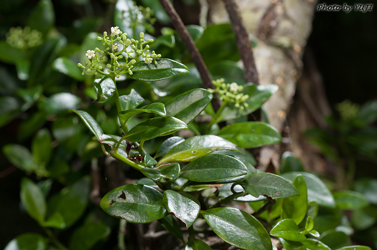
[[[281,237],[290,241],[305,241],[296,223],[291,219],[285,219],[276,224],[270,231],[272,236]]]

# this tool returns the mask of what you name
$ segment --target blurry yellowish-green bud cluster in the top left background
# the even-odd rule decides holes
[[[25,28],[11,27],[6,34],[6,42],[17,49],[29,49],[43,42],[42,33],[29,26]]]

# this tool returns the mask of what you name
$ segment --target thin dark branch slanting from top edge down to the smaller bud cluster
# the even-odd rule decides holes
[[[209,75],[207,66],[205,66],[204,64],[202,55],[199,53],[198,48],[196,48],[194,41],[192,40],[182,20],[178,16],[178,13],[175,11],[172,3],[169,0],[159,0],[159,1],[164,7],[165,11],[168,13],[176,31],[178,32],[179,36],[182,38],[183,43],[185,44],[187,50],[189,51],[190,56],[195,66],[197,67],[199,74],[201,75],[204,87],[214,89],[215,87],[212,84],[211,76]],[[212,106],[215,112],[220,107],[220,100],[215,93],[213,94]]]

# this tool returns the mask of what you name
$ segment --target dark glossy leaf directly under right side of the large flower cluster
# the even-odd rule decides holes
[[[133,64],[133,74],[128,75],[128,77],[142,81],[159,81],[190,73],[185,65],[171,59],[161,58],[155,60],[157,64],[154,62],[146,64],[144,61]]]

